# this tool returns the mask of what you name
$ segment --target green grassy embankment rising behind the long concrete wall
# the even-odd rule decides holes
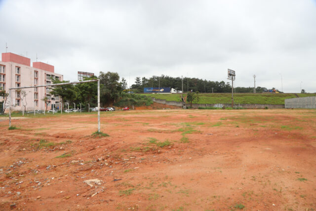
[[[181,102],[180,94],[142,94],[156,99],[165,99],[167,101]],[[316,96],[316,93],[297,94],[299,97]],[[284,100],[297,97],[292,93],[234,93],[235,103],[240,104],[284,104]],[[213,103],[231,103],[231,93],[200,93],[197,103],[213,104]]]

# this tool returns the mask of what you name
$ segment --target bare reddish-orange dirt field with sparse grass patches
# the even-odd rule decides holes
[[[0,210],[316,210],[315,110],[0,120]],[[96,179],[84,182],[85,180]]]

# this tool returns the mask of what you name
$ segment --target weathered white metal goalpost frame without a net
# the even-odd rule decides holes
[[[45,84],[45,85],[9,88],[9,127],[11,127],[11,110],[12,110],[11,90],[12,89],[35,88],[35,87],[57,86],[57,85],[67,85],[67,84],[82,84],[82,83],[89,83],[89,82],[98,82],[98,132],[100,132],[100,79],[94,79],[94,80],[89,80],[89,81],[79,81],[79,82],[68,82],[68,83],[61,83],[61,84]]]

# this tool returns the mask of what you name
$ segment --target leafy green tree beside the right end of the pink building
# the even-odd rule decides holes
[[[52,79],[53,84],[61,84],[68,83],[69,81],[59,81],[58,79]],[[77,99],[77,95],[79,90],[74,84],[66,84],[66,85],[58,85],[55,86],[52,91],[50,91],[51,95],[59,96],[62,99],[62,108],[64,108],[64,101],[75,101]]]

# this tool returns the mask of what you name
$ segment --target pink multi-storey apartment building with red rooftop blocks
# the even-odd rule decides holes
[[[2,60],[0,61],[0,88],[9,92],[10,87],[23,87],[51,84],[51,79],[59,79],[63,81],[63,75],[54,73],[54,66],[42,63],[33,62],[31,67],[31,59],[20,56],[14,53],[2,53]],[[13,111],[21,111],[24,109],[23,104],[26,106],[27,111],[44,110],[45,103],[41,100],[45,96],[50,98],[47,105],[47,110],[54,107],[60,107],[59,97],[51,96],[49,92],[51,87],[35,87],[24,89],[27,92],[26,100],[23,102],[20,99],[20,91],[16,89],[11,90],[11,102]],[[0,99],[0,102],[3,99]],[[8,101],[7,101],[8,104]],[[8,111],[8,107],[6,112]]]

